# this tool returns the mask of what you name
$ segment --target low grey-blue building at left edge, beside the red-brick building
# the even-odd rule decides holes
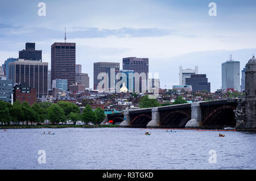
[[[1,79],[0,77],[0,100],[12,102],[13,80]]]

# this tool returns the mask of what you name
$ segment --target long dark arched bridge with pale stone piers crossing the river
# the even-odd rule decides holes
[[[236,109],[237,99],[226,99],[126,110],[108,115],[108,120],[131,128],[234,128]]]

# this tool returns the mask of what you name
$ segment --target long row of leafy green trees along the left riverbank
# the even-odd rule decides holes
[[[28,124],[28,121],[33,123],[44,123],[49,120],[52,124],[64,123],[71,120],[74,124],[77,121],[85,123],[99,124],[105,119],[104,110],[98,107],[92,110],[92,107],[86,105],[83,112],[80,113],[80,108],[74,103],[59,101],[57,103],[39,102],[32,106],[27,102],[20,103],[15,101],[11,103],[0,100],[0,123],[9,125],[13,123]]]

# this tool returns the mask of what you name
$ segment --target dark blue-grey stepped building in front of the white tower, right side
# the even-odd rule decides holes
[[[210,92],[210,82],[206,74],[191,74],[190,78],[185,79],[185,83],[192,86],[192,91]]]

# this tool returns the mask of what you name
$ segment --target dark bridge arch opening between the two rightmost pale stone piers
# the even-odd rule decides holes
[[[160,120],[160,124],[163,127],[185,128],[185,125],[189,120],[191,120],[191,114],[182,110],[174,110],[168,112],[168,114]]]

